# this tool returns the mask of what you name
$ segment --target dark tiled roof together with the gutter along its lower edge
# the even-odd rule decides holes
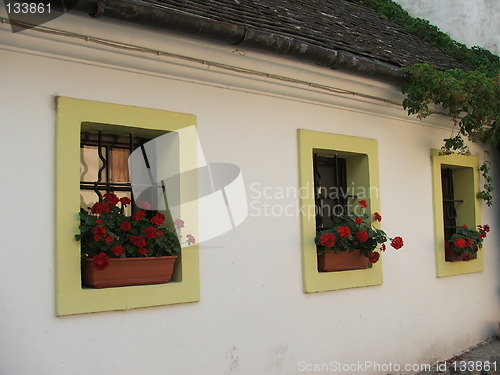
[[[402,81],[400,68],[463,68],[363,0],[79,0],[76,10],[356,74]]]

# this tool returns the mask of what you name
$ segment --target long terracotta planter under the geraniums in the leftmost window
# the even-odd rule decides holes
[[[172,278],[177,256],[110,258],[109,266],[98,270],[92,259],[82,259],[82,285],[91,288],[165,284]]]

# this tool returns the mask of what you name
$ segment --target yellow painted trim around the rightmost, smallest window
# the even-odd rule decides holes
[[[436,275],[438,277],[454,276],[484,269],[483,250],[477,253],[477,258],[468,262],[446,262],[444,256],[444,224],[443,224],[443,191],[441,187],[441,166],[449,165],[462,171],[460,181],[455,181],[457,199],[463,199],[461,212],[463,223],[469,228],[476,228],[481,223],[481,205],[476,198],[479,192],[479,159],[477,156],[439,155],[439,150],[431,150],[432,160],[432,193],[434,207],[434,240],[436,251]],[[469,173],[471,171],[471,173]]]

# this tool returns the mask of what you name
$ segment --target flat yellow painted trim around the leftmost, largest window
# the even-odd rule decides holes
[[[182,280],[162,285],[84,289],[80,281],[80,129],[85,124],[134,127],[146,134],[196,125],[194,115],[66,97],[57,98],[55,160],[56,315],[194,302],[200,299],[198,246],[182,250]],[[88,126],[88,125],[86,125]],[[91,125],[90,125],[91,126]]]

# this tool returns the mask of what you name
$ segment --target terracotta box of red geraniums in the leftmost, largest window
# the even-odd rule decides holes
[[[165,215],[161,212],[136,211],[128,217],[124,208],[132,204],[130,198],[118,198],[113,192],[102,198],[89,211],[80,212],[80,233],[75,239],[82,243],[82,285],[111,288],[168,283],[181,245],[195,243],[191,234],[181,243],[184,221],[176,219],[174,229],[168,229],[162,226]]]

